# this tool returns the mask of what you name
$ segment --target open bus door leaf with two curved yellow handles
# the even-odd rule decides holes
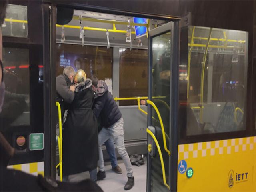
[[[178,22],[149,31],[147,191],[176,190]]]

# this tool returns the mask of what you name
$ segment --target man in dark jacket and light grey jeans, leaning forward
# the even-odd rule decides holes
[[[134,177],[132,173],[132,164],[124,146],[124,120],[122,114],[114,101],[113,96],[108,91],[108,86],[103,80],[98,82],[97,94],[98,96],[94,100],[93,112],[95,116],[100,119],[100,124],[103,127],[98,135],[98,166],[100,170],[97,177],[106,177],[101,146],[108,139],[113,138],[116,143],[117,151],[123,159],[127,171],[128,181],[124,186],[124,190],[130,190],[134,186]]]

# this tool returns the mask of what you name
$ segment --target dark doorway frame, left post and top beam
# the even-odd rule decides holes
[[[50,6],[50,10],[46,7]],[[56,64],[56,53],[54,54],[54,48],[56,50],[56,7],[64,6],[68,8],[74,8],[78,10],[101,12],[108,14],[117,14],[125,16],[136,16],[149,19],[159,19],[173,21],[179,23],[180,17],[170,15],[159,15],[149,13],[130,12],[126,10],[117,10],[112,8],[88,6],[86,3],[77,3],[72,0],[66,1],[55,1],[55,0],[42,0],[42,11],[43,11],[43,24],[44,24],[44,132],[45,132],[45,175],[55,176],[55,156],[56,156],[56,127],[54,119],[55,111],[55,95],[56,95],[56,77],[55,77],[55,64]],[[177,30],[178,31],[178,30]],[[179,39],[175,40],[179,43]],[[177,50],[179,52],[179,50]],[[49,58],[49,59],[48,59]],[[174,61],[178,58],[174,59]],[[150,71],[151,66],[149,66]],[[152,71],[152,69],[151,69]],[[150,79],[149,79],[150,84]],[[150,87],[149,87],[150,88]],[[151,95],[149,95],[151,96]],[[151,111],[148,112],[150,116]],[[177,135],[176,135],[177,137]],[[176,146],[178,146],[176,144]],[[176,149],[177,150],[177,149]],[[177,161],[177,160],[176,160]],[[150,161],[149,161],[150,162]],[[148,171],[148,170],[147,170]],[[150,172],[148,172],[150,174]],[[148,183],[148,178],[147,178]],[[149,188],[147,187],[147,190]]]

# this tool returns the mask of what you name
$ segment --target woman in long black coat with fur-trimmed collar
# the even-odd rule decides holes
[[[92,80],[86,79],[83,70],[78,70],[74,80],[78,84],[63,130],[63,176],[66,180],[69,175],[89,171],[96,181],[98,129],[92,112]]]

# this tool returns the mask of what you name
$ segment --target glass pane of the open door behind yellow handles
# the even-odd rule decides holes
[[[171,40],[170,32],[156,36],[152,39],[152,100],[156,104],[166,132],[166,144],[169,146],[169,122],[170,122],[170,60]],[[164,150],[162,130],[156,111],[152,109],[152,125],[156,127],[156,137],[160,144],[164,158],[166,180],[168,182],[169,156]],[[163,184],[162,169],[158,152],[152,158],[152,191],[166,191]]]

